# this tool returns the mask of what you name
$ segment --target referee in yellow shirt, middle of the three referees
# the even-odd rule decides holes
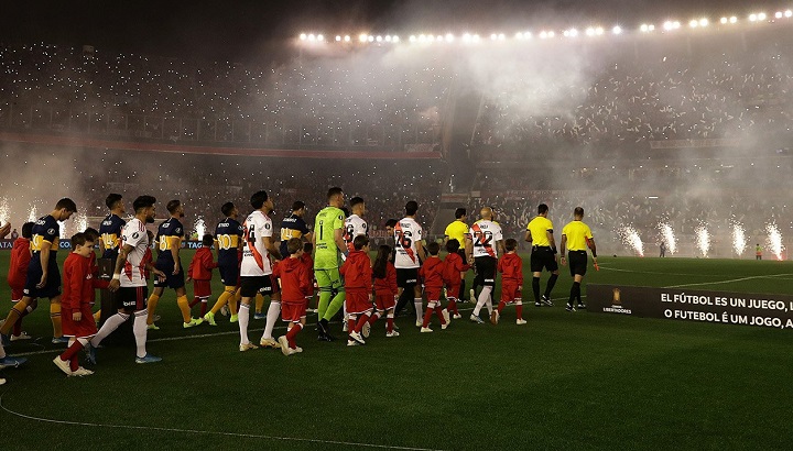
[[[526,226],[525,241],[532,243],[531,270],[532,292],[534,292],[534,306],[545,304],[553,307],[551,290],[558,278],[558,264],[556,263],[556,241],[553,238],[553,222],[547,219],[547,206],[537,206],[537,216]],[[551,278],[545,286],[545,294],[540,297],[540,276],[543,268],[551,272]]]

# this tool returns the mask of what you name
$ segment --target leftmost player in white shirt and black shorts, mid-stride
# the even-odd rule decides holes
[[[117,292],[113,301],[118,314],[105,320],[99,332],[90,340],[89,360],[93,363],[96,363],[96,348],[99,343],[127,321],[130,315],[134,315],[132,332],[135,338],[135,363],[154,363],[162,360],[149,354],[145,349],[149,317],[146,272],[154,273],[159,280],[166,278],[165,273],[154,267],[149,257],[151,253],[145,226],[154,223],[156,213],[154,204],[156,199],[152,196],[140,196],[132,202],[135,216],[121,231],[121,250],[109,285],[111,292]]]

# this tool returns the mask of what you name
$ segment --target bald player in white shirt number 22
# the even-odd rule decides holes
[[[495,221],[493,210],[484,207],[479,216],[481,219],[471,224],[469,237],[466,239],[466,253],[474,261],[478,285],[482,286],[470,320],[481,324],[485,322],[479,318],[482,307],[487,306],[488,316],[492,316],[492,292],[496,289],[498,256],[504,253],[504,248],[501,226]]]

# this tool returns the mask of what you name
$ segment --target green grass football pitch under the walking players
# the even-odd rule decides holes
[[[0,253],[3,316],[8,257]],[[793,262],[602,257],[600,266],[587,283],[793,295]],[[357,348],[317,342],[309,326],[297,337],[304,352],[290,358],[238,352],[225,317],[182,329],[170,292],[157,307],[162,330],[149,333],[163,361],[137,365],[131,345],[109,345],[83,378],[51,362],[63,348],[50,344],[42,301],[23,328],[39,340],[7,349],[30,361],[1,374],[2,449],[790,448],[791,331],[571,314],[569,286],[563,267],[556,306],[526,302],[526,326],[514,324],[513,307],[498,326],[464,319],[430,334],[402,317],[401,337],[387,339],[380,322]],[[213,288],[210,301],[217,276]],[[461,307],[466,318],[472,306]],[[263,326],[251,320],[252,340]]]

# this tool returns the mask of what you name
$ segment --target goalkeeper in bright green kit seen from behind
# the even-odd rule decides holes
[[[347,250],[344,241],[345,213],[340,209],[344,202],[341,188],[330,188],[328,206],[317,213],[314,221],[314,276],[319,287],[317,329],[322,341],[334,340],[328,333],[328,321],[345,301],[344,280],[339,275],[343,253]]]

